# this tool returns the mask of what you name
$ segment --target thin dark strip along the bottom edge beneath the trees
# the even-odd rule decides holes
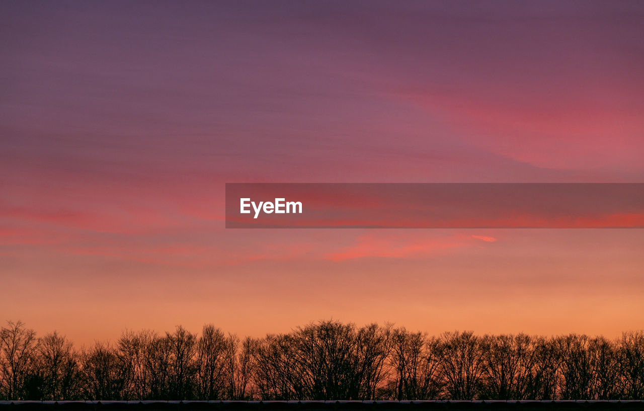
[[[644,401],[0,401],[0,411],[644,410]]]

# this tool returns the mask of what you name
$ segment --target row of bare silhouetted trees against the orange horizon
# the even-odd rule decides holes
[[[213,325],[126,331],[75,349],[57,332],[38,338],[9,321],[0,399],[644,399],[644,332],[429,336],[320,321],[264,338]]]

